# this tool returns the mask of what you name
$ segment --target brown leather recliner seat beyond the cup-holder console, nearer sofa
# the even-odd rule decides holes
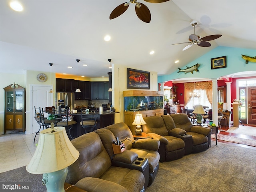
[[[134,140],[133,135],[129,127],[124,123],[116,123],[112,124],[110,126],[107,126],[103,128],[103,130],[109,130],[110,132],[113,133],[114,138],[118,137],[119,140],[121,140],[122,143],[124,143],[125,148],[126,148],[126,153],[122,154],[117,154],[113,156],[113,149],[112,146],[106,147],[107,151],[109,152],[110,156],[113,156],[113,160],[120,161],[122,158],[126,158],[125,155],[127,155],[128,151],[129,154],[134,154],[134,157],[138,156],[140,158],[146,158],[148,159],[148,164],[149,164],[149,180],[148,180],[148,186],[152,184],[154,181],[154,178],[156,177],[156,174],[158,172],[159,168],[159,160],[160,160],[160,155],[158,153],[158,148],[160,146],[159,140],[154,140],[152,138],[145,138],[145,139],[139,139],[139,140]],[[95,130],[96,133],[99,133],[101,130]],[[104,141],[104,134],[101,134],[101,139],[102,142],[105,144],[106,141]],[[111,143],[113,140],[111,141]],[[110,143],[110,142],[108,142]],[[127,158],[126,158],[127,159]],[[147,178],[145,178],[146,180]]]

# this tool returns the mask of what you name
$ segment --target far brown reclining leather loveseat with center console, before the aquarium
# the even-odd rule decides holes
[[[145,117],[143,132],[160,141],[160,161],[182,158],[185,154],[209,148],[212,130],[193,126],[186,114]]]

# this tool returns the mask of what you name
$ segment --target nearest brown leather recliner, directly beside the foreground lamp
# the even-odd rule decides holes
[[[71,142],[80,156],[68,166],[67,183],[88,192],[144,192],[142,172],[112,166],[98,134],[90,132]]]

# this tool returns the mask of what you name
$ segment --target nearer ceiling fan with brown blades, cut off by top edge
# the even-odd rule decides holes
[[[150,2],[150,3],[162,3],[162,2],[169,1],[169,0],[144,0],[144,1]],[[114,10],[111,12],[109,18],[114,19],[114,18],[117,18],[118,16],[122,15],[128,9],[130,3],[136,4],[135,12],[136,12],[138,18],[140,18],[140,20],[142,20],[146,23],[149,23],[151,20],[151,14],[150,14],[148,7],[142,3],[138,3],[137,0],[130,0],[126,3],[120,4],[119,6],[114,8]]]

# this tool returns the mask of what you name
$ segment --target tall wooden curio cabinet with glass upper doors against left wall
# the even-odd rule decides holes
[[[7,130],[25,132],[25,88],[14,83],[4,92],[4,134]]]

